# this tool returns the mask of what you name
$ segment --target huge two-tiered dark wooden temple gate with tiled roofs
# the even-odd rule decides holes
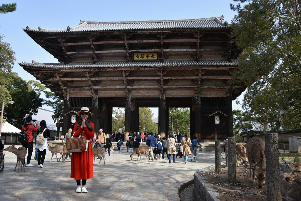
[[[125,107],[125,140],[138,131],[139,107],[159,108],[168,135],[168,108],[190,108],[190,134],[212,141],[233,136],[232,100],[245,90],[228,80],[238,69],[231,26],[223,17],[192,20],[89,22],[63,30],[23,29],[60,63],[19,63],[64,100],[64,113],[89,107],[95,130],[111,132],[113,107]],[[72,128],[64,116],[63,133]]]

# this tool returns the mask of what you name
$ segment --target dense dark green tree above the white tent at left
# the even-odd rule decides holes
[[[8,91],[15,103],[8,104],[6,117],[9,123],[14,123],[14,126],[21,128],[26,116],[37,114],[38,107],[42,106],[43,99],[17,73],[11,74],[11,80],[12,83],[8,87]]]

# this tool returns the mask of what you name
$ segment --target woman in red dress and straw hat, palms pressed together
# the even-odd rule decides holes
[[[82,152],[73,152],[71,157],[71,178],[77,183],[76,193],[87,193],[86,181],[93,178],[93,150],[91,139],[94,137],[94,124],[88,119],[93,114],[88,107],[82,107],[77,112],[81,119],[77,120],[73,127],[73,136],[85,136],[87,138],[86,149]],[[82,180],[82,186],[80,185]]]

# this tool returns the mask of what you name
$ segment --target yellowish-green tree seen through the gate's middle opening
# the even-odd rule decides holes
[[[139,131],[158,133],[158,125],[153,122],[154,113],[148,107],[139,108]]]

